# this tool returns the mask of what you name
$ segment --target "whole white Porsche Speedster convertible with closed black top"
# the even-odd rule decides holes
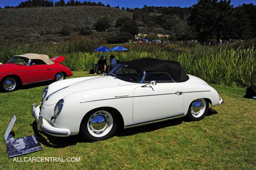
[[[38,130],[53,136],[108,139],[129,128],[187,116],[200,120],[218,92],[188,75],[175,61],[142,58],[118,64],[108,76],[71,78],[50,84],[41,105],[32,105]]]

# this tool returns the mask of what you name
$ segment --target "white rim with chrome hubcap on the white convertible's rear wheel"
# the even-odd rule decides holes
[[[200,117],[206,109],[206,101],[203,98],[196,99],[192,102],[191,113],[193,117]]]

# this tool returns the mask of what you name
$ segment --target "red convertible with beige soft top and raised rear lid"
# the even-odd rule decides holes
[[[0,65],[0,90],[11,92],[21,85],[59,81],[72,76],[71,70],[60,64],[63,60],[62,56],[49,58],[44,54],[15,55]]]

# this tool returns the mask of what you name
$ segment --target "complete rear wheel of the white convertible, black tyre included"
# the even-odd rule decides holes
[[[198,121],[203,119],[209,108],[209,102],[204,98],[199,98],[194,101],[189,106],[187,117],[191,121]]]

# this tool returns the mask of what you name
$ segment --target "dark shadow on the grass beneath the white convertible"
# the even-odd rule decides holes
[[[210,108],[206,116],[211,116],[217,113],[218,113],[217,111]],[[151,131],[162,129],[165,127],[176,126],[178,124],[181,124],[182,121],[188,121],[188,120],[186,119],[186,117],[179,117],[177,119],[171,119],[171,120],[161,121],[157,123],[151,123],[151,124],[141,125],[137,127],[121,129],[117,131],[115,136],[131,136],[138,133],[151,132]],[[84,142],[80,134],[72,135],[68,137],[56,137],[56,136],[48,135],[45,132],[39,133],[37,130],[37,124],[35,121],[30,125],[32,126],[35,136],[37,136],[37,139],[39,140],[39,142],[44,144],[47,147],[63,148],[63,147],[75,145],[76,143]]]

